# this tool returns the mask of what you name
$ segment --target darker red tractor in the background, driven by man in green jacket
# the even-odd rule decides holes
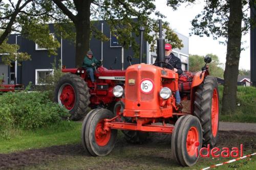
[[[85,68],[63,68],[62,72],[68,74],[57,83],[54,100],[69,110],[72,120],[86,115],[88,107],[111,109],[120,100],[120,96],[114,96],[113,89],[124,85],[124,70],[108,70],[100,66],[95,71],[95,83]]]

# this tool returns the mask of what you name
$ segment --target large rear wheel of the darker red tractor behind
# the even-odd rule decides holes
[[[55,86],[54,101],[69,110],[71,120],[82,118],[90,104],[87,83],[75,74],[62,76]]]

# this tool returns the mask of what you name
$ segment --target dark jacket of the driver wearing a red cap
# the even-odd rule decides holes
[[[155,62],[158,62],[158,61],[159,61],[159,58],[157,57]],[[178,75],[182,74],[183,71],[181,69],[181,61],[173,53],[170,53],[170,58],[165,59],[165,61],[167,61],[169,64],[172,64],[172,66],[174,66],[174,68],[178,69],[178,71],[177,71]],[[169,64],[164,64],[164,67],[169,68],[169,69],[173,69]],[[158,63],[157,65],[159,66],[160,64]]]

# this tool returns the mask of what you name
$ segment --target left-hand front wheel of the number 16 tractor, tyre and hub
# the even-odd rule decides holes
[[[84,119],[82,143],[92,156],[105,156],[114,149],[117,130],[104,130],[104,119],[113,117],[110,110],[94,109]]]

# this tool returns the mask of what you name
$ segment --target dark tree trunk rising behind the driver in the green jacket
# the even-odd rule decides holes
[[[77,9],[76,27],[76,59],[75,65],[81,66],[83,58],[90,48],[90,7],[91,1],[82,1],[81,7]]]

